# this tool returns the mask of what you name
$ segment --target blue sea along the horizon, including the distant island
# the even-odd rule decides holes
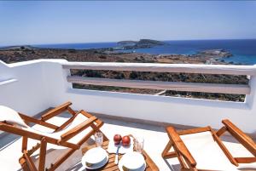
[[[15,46],[13,46],[15,47]],[[19,46],[16,46],[19,47]],[[29,46],[25,46],[29,47]],[[231,54],[231,57],[222,57],[212,60],[218,60],[225,64],[235,65],[255,65],[256,64],[256,39],[224,39],[224,40],[177,40],[177,41],[154,41],[150,39],[141,39],[139,41],[121,41],[107,43],[61,43],[61,44],[36,44],[33,48],[46,49],[74,49],[74,50],[91,50],[108,51],[108,54],[137,53],[137,54],[154,54],[160,56],[171,56],[175,54],[187,55],[194,57],[204,50],[224,49]],[[2,49],[8,47],[2,47]],[[212,62],[211,60],[211,62]]]

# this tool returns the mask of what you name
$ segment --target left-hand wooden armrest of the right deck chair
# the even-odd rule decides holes
[[[175,130],[175,128],[168,127],[168,128],[166,128],[166,131],[167,131],[167,134],[168,134],[170,140],[172,140],[173,147],[177,150],[176,152],[179,153],[180,155],[182,155],[183,158],[187,162],[189,162],[189,164],[192,167],[195,167],[196,162],[195,162],[194,157],[192,157],[192,155],[190,154],[188,148],[183,143],[183,140],[181,140],[180,136],[177,134],[177,131]]]

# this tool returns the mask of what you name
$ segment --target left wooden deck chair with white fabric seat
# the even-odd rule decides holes
[[[0,105],[0,130],[9,132],[11,134],[18,134],[22,136],[23,153],[20,157],[20,165],[24,170],[29,171],[53,171],[59,167],[62,162],[67,160],[74,151],[79,150],[80,146],[84,144],[86,140],[90,138],[92,134],[101,132],[99,128],[102,127],[103,122],[96,117],[90,115],[86,111],[75,112],[70,107],[71,102],[67,102],[63,105],[55,107],[54,109],[45,113],[41,119],[35,119],[28,117],[24,114],[18,113],[9,107]],[[64,111],[68,111],[72,117],[63,123],[61,126],[56,126],[46,121],[56,115],[61,114]],[[40,132],[34,128],[31,128],[27,123],[36,123],[46,128],[52,128],[52,133]],[[40,143],[27,150],[27,140],[38,140]],[[108,140],[104,135],[104,140]],[[69,148],[67,153],[57,159],[55,163],[52,163],[49,168],[45,168],[46,150],[47,145],[52,144],[56,147]],[[38,168],[35,163],[32,162],[32,153],[39,150],[39,162]],[[56,148],[57,149],[57,148]]]

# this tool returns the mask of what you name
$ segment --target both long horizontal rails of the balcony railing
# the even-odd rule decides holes
[[[224,66],[224,65],[190,65],[190,64],[145,64],[145,63],[95,63],[69,62],[64,69],[107,70],[107,71],[153,71],[182,72],[201,74],[247,75],[254,76],[254,66]],[[160,90],[175,90],[188,92],[204,92],[219,94],[250,94],[250,86],[242,84],[220,83],[180,83],[142,80],[120,80],[97,77],[68,76],[68,83],[91,84],[100,86],[115,86],[125,88],[151,88]]]

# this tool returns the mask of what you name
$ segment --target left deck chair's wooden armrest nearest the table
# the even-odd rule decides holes
[[[67,141],[71,138],[73,138],[73,136],[79,134],[80,132],[82,132],[85,128],[90,127],[92,124],[94,124],[94,122],[97,120],[96,117],[90,117],[89,119],[87,119],[86,121],[84,121],[83,123],[80,123],[78,126],[72,128],[71,130],[67,131],[67,133],[65,134],[61,134],[61,141]]]

